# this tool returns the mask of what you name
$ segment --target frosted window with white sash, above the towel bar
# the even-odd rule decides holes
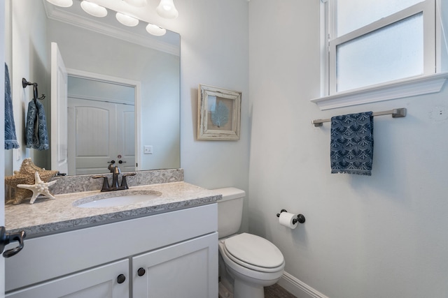
[[[448,9],[440,9],[440,0],[321,1],[324,96],[377,89],[441,72],[441,58],[447,52],[442,19]],[[391,98],[381,98],[385,99]]]

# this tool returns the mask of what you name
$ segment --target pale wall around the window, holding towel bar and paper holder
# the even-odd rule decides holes
[[[448,89],[321,112],[319,2],[249,4],[249,230],[330,298],[447,297]],[[372,176],[330,174],[330,126],[311,120],[395,107],[374,119]],[[282,208],[306,223],[280,226]]]

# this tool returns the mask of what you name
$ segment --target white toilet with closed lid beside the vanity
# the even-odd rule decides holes
[[[221,298],[263,298],[264,287],[279,281],[285,260],[279,248],[254,234],[236,234],[241,225],[246,193],[219,188],[218,200],[219,295]]]

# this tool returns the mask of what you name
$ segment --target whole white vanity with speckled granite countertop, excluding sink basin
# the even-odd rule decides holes
[[[7,205],[7,230],[27,237],[6,259],[6,297],[217,297],[221,195],[183,181],[127,191],[158,195],[112,207],[80,206],[99,191]]]

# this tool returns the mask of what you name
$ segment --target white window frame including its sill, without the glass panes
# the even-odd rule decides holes
[[[441,20],[436,13],[436,6],[440,7],[440,0],[426,0],[414,6],[401,10],[398,13],[384,17],[381,20],[368,24],[365,27],[346,33],[344,36],[336,36],[335,31],[335,1],[321,0],[321,34],[323,35],[323,46],[321,52],[321,97],[314,98],[311,102],[316,103],[321,110],[336,107],[372,103],[381,100],[391,100],[407,96],[430,94],[439,92],[448,78],[447,73],[437,73],[440,69]],[[336,81],[336,48],[337,45],[346,43],[360,36],[381,29],[407,17],[423,13],[423,74],[409,77],[393,82],[375,84],[372,86],[337,92]],[[331,25],[333,24],[333,25]]]

